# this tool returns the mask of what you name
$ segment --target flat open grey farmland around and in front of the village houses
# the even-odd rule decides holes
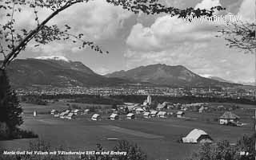
[[[236,142],[242,135],[251,135],[254,132],[252,119],[253,110],[234,111],[248,123],[244,127],[229,127],[218,125],[214,121],[203,119],[214,119],[221,112],[203,113],[187,111],[186,116],[194,119],[133,119],[122,117],[121,120],[90,121],[90,115],[78,117],[77,119],[58,119],[47,113],[51,109],[66,108],[58,104],[50,106],[36,106],[22,104],[24,107],[25,123],[22,128],[37,133],[40,139],[50,142],[52,146],[64,146],[70,150],[94,150],[96,143],[101,143],[106,150],[111,150],[116,141],[111,139],[126,139],[136,142],[146,152],[150,160],[153,159],[183,159],[190,156],[198,149],[197,144],[183,144],[177,142],[182,136],[188,134],[192,129],[199,128],[206,131],[214,142],[226,139]],[[32,111],[38,111],[37,117],[32,116]],[[41,112],[41,114],[40,114]],[[106,115],[107,116],[107,115]],[[0,142],[9,150],[26,149],[31,139],[18,139]]]

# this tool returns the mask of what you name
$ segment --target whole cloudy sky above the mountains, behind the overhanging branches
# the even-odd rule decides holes
[[[226,7],[242,21],[255,21],[255,0],[162,0],[167,6],[210,9]],[[42,21],[49,10],[39,10]],[[217,15],[223,13],[216,13]],[[4,17],[0,14],[1,21]],[[36,26],[33,10],[14,14],[17,27]],[[34,47],[31,42],[18,58],[64,56],[81,61],[98,74],[128,70],[147,64],[183,65],[201,76],[218,76],[234,82],[254,81],[254,55],[230,49],[218,35],[224,21],[193,21],[167,14],[133,14],[105,0],[94,0],[71,6],[50,21],[50,25],[71,26],[73,33],[84,33],[85,40],[94,41],[109,54],[78,49],[70,41],[54,41]]]

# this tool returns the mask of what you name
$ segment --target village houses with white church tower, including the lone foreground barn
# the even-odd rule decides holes
[[[240,117],[235,115],[231,111],[238,108],[238,105],[231,105],[230,107],[224,107],[218,105],[217,107],[209,107],[209,103],[170,103],[163,102],[158,103],[155,109],[151,109],[151,96],[147,96],[143,103],[123,103],[122,105],[116,105],[112,108],[96,109],[90,111],[86,109],[64,109],[58,111],[53,109],[50,111],[50,115],[59,119],[88,119],[90,121],[118,121],[118,120],[133,120],[133,119],[183,119],[183,120],[195,120],[195,118],[186,116],[186,111],[195,112],[197,114],[203,114],[205,112],[219,111],[222,115],[215,119],[215,123],[219,125],[226,125],[232,127],[243,127],[247,123],[242,123]],[[34,111],[34,116],[37,116],[37,111]],[[214,142],[214,139],[210,135],[200,128],[194,128],[186,134],[182,139],[178,139],[179,142],[184,143],[202,143],[202,142]]]

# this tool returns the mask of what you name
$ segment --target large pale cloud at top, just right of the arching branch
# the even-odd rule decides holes
[[[113,6],[106,1],[96,0],[84,2],[63,11],[53,22],[69,23],[90,40],[102,40],[114,37],[124,20],[132,14],[120,6]]]

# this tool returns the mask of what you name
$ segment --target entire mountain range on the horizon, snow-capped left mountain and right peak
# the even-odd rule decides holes
[[[14,60],[7,69],[15,88],[30,86],[116,86],[123,84],[164,85],[170,87],[234,87],[229,83],[198,76],[182,65],[151,64],[98,75],[86,65],[65,57],[38,57]]]

